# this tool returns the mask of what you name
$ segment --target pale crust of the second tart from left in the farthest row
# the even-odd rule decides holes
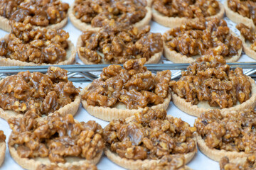
[[[73,3],[70,8],[68,9],[68,17],[70,18],[71,23],[75,26],[75,28],[78,28],[79,30],[86,31],[86,30],[100,30],[100,27],[92,27],[89,23],[84,23],[80,19],[76,18],[73,9],[74,9],[75,3]],[[144,28],[144,26],[149,25],[151,21],[151,8],[149,6],[146,6],[146,16],[142,19],[142,21],[139,21],[137,23],[134,23],[132,26],[137,27],[139,29]]]

